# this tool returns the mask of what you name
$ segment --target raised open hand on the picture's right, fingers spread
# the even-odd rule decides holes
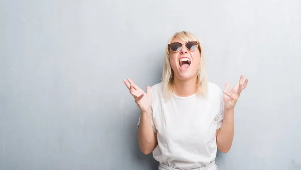
[[[224,90],[225,109],[228,110],[234,109],[236,102],[240,97],[241,91],[247,87],[248,78],[245,79],[243,84],[242,81],[243,81],[243,75],[241,74],[239,82],[231,90],[228,90],[230,83],[229,82],[226,83],[225,90]]]

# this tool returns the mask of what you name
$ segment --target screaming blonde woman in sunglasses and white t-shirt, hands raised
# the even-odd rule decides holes
[[[123,80],[140,108],[138,143],[153,151],[159,169],[217,169],[217,149],[228,152],[234,135],[234,106],[248,79],[231,90],[208,82],[199,40],[189,32],[168,42],[162,82],[143,92]]]

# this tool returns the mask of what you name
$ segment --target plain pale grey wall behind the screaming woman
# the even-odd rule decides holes
[[[0,169],[156,169],[122,79],[161,81],[195,33],[222,89],[249,77],[219,169],[301,169],[300,1],[0,1]]]

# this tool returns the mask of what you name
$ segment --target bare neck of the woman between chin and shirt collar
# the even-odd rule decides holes
[[[197,77],[188,80],[181,80],[175,77],[173,88],[177,96],[187,97],[197,92],[196,84]]]

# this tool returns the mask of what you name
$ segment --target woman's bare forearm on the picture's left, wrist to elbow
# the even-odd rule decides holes
[[[157,135],[153,131],[151,123],[151,111],[140,113],[140,124],[138,128],[139,148],[144,154],[149,154],[157,145]]]

